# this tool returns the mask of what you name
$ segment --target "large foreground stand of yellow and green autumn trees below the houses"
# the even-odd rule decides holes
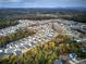
[[[59,35],[51,41],[37,46],[22,55],[2,57],[1,64],[53,64],[61,54],[81,53],[81,44],[70,41],[65,35]]]

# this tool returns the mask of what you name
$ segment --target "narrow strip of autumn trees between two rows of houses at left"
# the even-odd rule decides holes
[[[9,42],[20,40],[22,38],[34,35],[35,33],[36,33],[35,30],[28,29],[26,27],[19,28],[12,34],[8,34],[7,36],[1,36],[0,37],[0,47],[4,47]]]

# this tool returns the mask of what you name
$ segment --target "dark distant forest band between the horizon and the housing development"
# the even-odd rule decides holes
[[[0,17],[10,20],[66,18],[86,23],[86,9],[0,9]]]

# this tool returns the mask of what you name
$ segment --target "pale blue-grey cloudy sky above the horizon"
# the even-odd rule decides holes
[[[86,0],[0,0],[0,8],[86,8]]]

